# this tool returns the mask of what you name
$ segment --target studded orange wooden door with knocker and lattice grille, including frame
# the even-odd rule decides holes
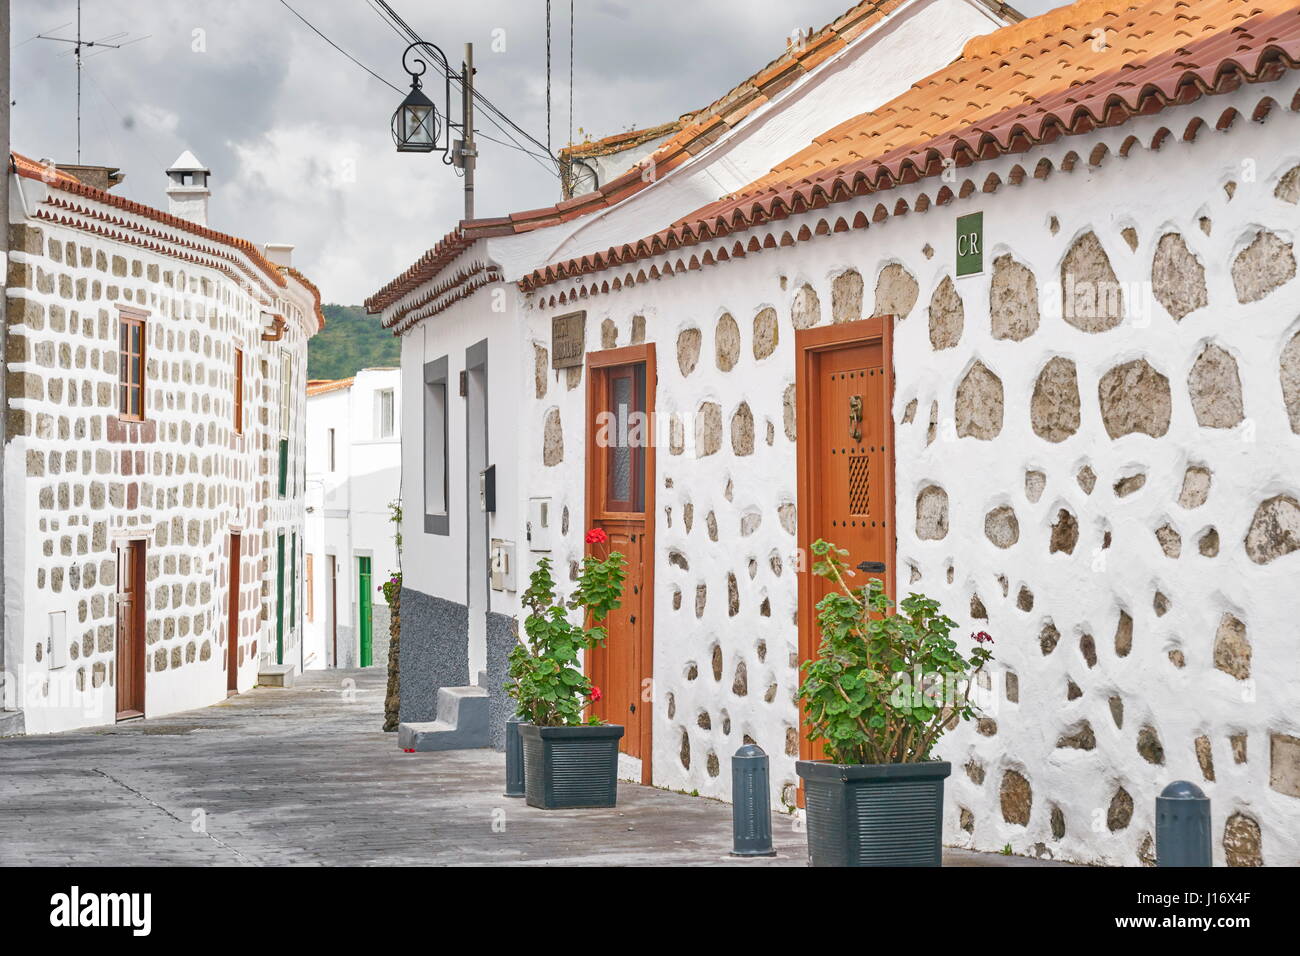
[[[845,549],[853,587],[871,578],[894,594],[894,450],[890,317],[800,332],[800,659],[820,644],[816,604],[833,587],[812,575],[818,538]],[[801,737],[800,754],[820,757]]]

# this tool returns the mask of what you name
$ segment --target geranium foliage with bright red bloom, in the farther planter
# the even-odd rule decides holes
[[[592,551],[603,550],[608,536],[601,528],[586,533]],[[568,601],[555,594],[550,558],[542,558],[529,576],[524,592],[524,639],[510,652],[510,696],[519,702],[519,714],[538,727],[567,727],[584,723],[582,711],[601,700],[601,688],[578,667],[580,656],[604,644],[604,618],[619,606],[625,561],[619,551],[607,557],[589,553],[582,559],[577,587]],[[571,611],[580,610],[573,623]],[[590,714],[586,723],[599,723]]]

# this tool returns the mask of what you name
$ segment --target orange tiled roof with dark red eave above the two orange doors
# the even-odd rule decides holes
[[[1104,39],[1104,42],[1101,42]],[[1079,0],[976,36],[949,66],[818,137],[744,190],[521,287],[1023,152],[1300,68],[1295,0]]]

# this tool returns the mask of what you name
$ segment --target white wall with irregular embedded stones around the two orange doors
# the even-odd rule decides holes
[[[948,840],[1149,862],[1154,797],[1182,778],[1213,800],[1217,862],[1300,862],[1300,321],[1291,248],[1300,174],[1290,172],[1300,163],[1300,120],[1279,107],[1268,122],[1249,122],[1266,92],[1290,103],[1294,90],[1248,86],[982,163],[968,183],[928,179],[592,278],[649,273],[751,234],[794,237],[822,219],[871,220],[878,203],[931,206],[868,228],[576,303],[549,303],[567,285],[530,297],[534,349],[549,346],[551,316],[575,308],[588,312],[589,347],[606,321],[603,345],[612,346],[628,343],[644,319],[645,339],[658,346],[660,416],[681,416],[688,441],[703,423],[707,441],[680,454],[671,427],[659,432],[670,437],[660,438],[655,476],[656,784],[727,797],[727,757],[749,736],[772,756],[774,799],[789,800],[793,330],[896,312],[900,587],[940,600],[959,632],[983,628],[997,641],[987,719],[940,747],[954,765]],[[1243,116],[1216,131],[1228,107]],[[1196,116],[1209,125],[1183,142]],[[1149,150],[1162,125],[1174,135]],[[1139,144],[1124,157],[1130,135]],[[1109,155],[1093,166],[1097,143]],[[1041,159],[1052,172],[1036,178]],[[984,193],[991,174],[1001,185]],[[932,204],[944,186],[967,198]],[[954,282],[954,220],[972,211],[984,212],[985,273]],[[1076,308],[1067,321],[1061,284],[1108,280],[1108,267],[1122,311],[1088,317]],[[767,310],[779,341],[755,358],[755,342],[759,355],[767,350]],[[1152,372],[1136,375],[1144,368],[1135,362]],[[1112,375],[1117,367],[1127,377]],[[550,372],[537,382],[521,473],[532,494],[554,494],[568,510],[563,564],[582,551],[585,393]],[[737,451],[750,446],[744,414],[733,428],[742,403],[754,421],[749,454]],[[1210,473],[1204,502],[1195,468]],[[1135,489],[1138,473],[1145,483]],[[926,496],[918,522],[930,486],[942,494]],[[998,509],[1015,515],[1014,541]],[[1132,637],[1124,624],[1117,646],[1121,611]]]

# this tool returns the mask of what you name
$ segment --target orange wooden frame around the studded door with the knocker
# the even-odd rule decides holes
[[[898,563],[898,529],[897,529],[897,501],[894,497],[894,476],[898,468],[897,450],[894,446],[894,373],[893,373],[893,325],[892,315],[878,315],[870,319],[859,319],[853,323],[840,325],[820,325],[812,329],[800,329],[794,333],[794,410],[796,410],[796,453],[798,458],[798,485],[797,511],[798,511],[798,548],[805,558],[806,567],[798,575],[798,627],[800,627],[800,665],[812,658],[818,648],[816,639],[816,609],[812,606],[812,528],[820,525],[822,509],[818,496],[812,494],[815,488],[811,447],[815,411],[818,410],[818,360],[827,352],[841,349],[853,349],[863,345],[880,343],[881,364],[885,375],[885,445],[888,447],[889,467],[885,468],[885,501],[887,514],[894,518],[893,544],[887,548],[885,554],[885,588],[889,596],[897,594],[897,563]],[[811,760],[812,745],[803,732],[803,705],[800,704],[800,760]],[[802,787],[800,788],[802,797]],[[802,801],[801,801],[802,805]]]

